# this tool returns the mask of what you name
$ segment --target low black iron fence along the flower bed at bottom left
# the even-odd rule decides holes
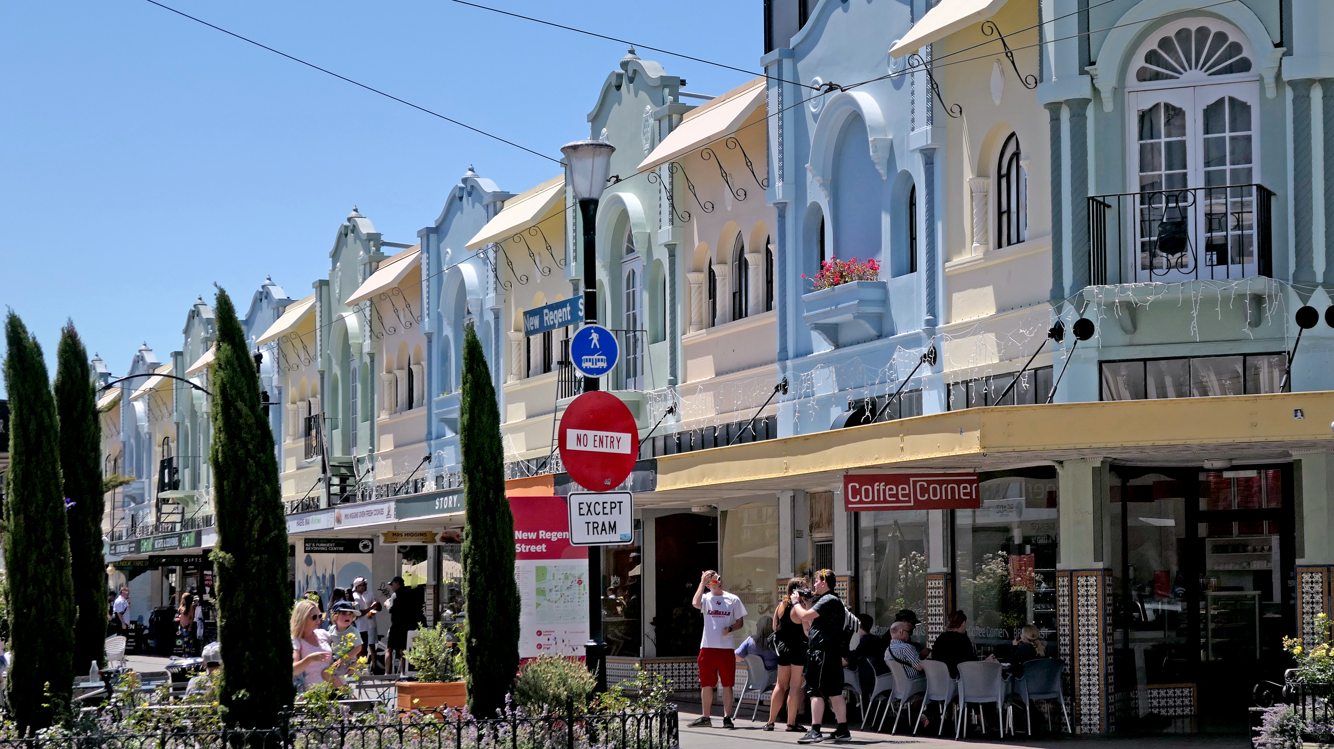
[[[455,713],[450,710],[450,713]],[[334,721],[287,718],[272,730],[95,730],[40,738],[0,738],[0,749],[678,749],[676,710],[646,713],[462,716],[376,713]]]

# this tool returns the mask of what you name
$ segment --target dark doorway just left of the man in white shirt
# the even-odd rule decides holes
[[[718,569],[718,518],[683,512],[655,521],[655,601],[652,620],[658,656],[694,656],[704,621],[691,605],[699,574]]]

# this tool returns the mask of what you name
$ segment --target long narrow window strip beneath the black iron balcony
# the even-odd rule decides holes
[[[1105,361],[1101,369],[1105,401],[1277,393],[1287,355]]]

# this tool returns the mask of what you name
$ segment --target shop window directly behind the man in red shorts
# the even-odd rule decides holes
[[[742,505],[719,514],[723,588],[740,597],[747,612],[744,633],[735,637],[740,644],[744,636],[759,637],[778,605],[778,505]]]

